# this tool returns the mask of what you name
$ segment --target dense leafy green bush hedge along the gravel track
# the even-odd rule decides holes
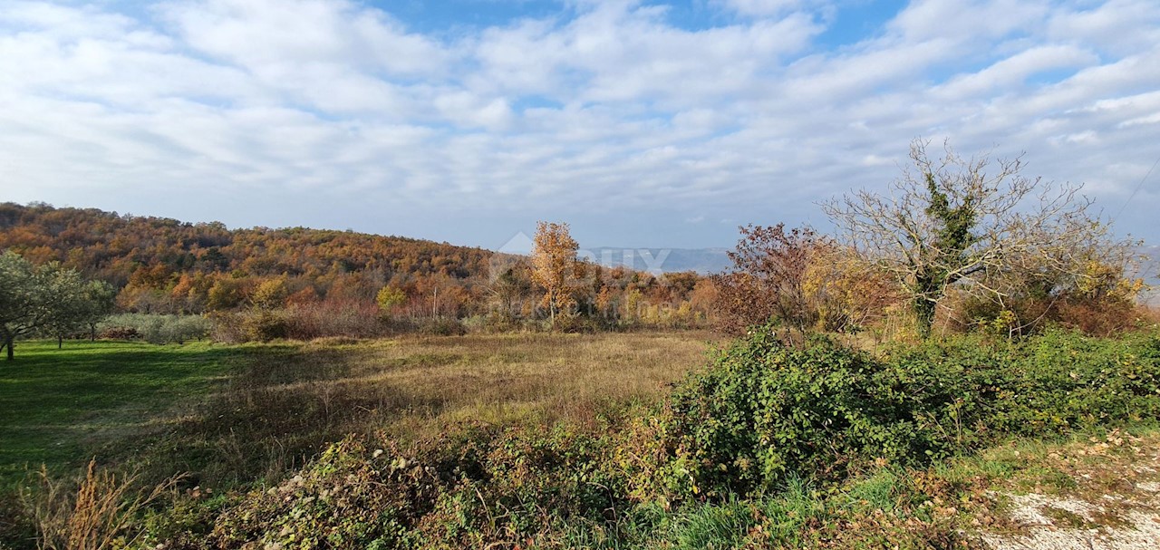
[[[827,340],[790,348],[767,327],[637,422],[617,462],[637,498],[665,501],[841,479],[870,462],[921,465],[1009,435],[1155,419],[1158,367],[1157,338],[964,338],[876,359]]]

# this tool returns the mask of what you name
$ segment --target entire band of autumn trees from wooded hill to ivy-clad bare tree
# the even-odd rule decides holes
[[[838,231],[741,227],[733,269],[653,275],[578,260],[542,222],[531,256],[399,237],[0,204],[0,249],[103,280],[122,312],[204,314],[219,340],[425,331],[597,331],[775,323],[876,341],[1050,325],[1111,335],[1153,321],[1137,303],[1140,243],[1115,236],[1076,186],[1015,160],[912,144],[886,194],[822,204]],[[153,331],[154,333],[158,331]],[[182,331],[160,331],[160,333]]]

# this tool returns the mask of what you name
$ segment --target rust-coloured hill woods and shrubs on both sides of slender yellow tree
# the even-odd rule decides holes
[[[0,249],[109,283],[121,312],[209,316],[227,340],[513,330],[551,317],[529,259],[401,237],[5,203]],[[712,295],[691,272],[594,265],[573,294],[553,327],[701,325]]]

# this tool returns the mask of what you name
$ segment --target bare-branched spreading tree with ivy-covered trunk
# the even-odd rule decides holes
[[[912,166],[886,194],[860,190],[822,204],[847,244],[902,289],[923,338],[951,288],[1005,299],[1015,289],[1000,281],[1082,277],[1076,252],[1125,246],[1089,215],[1080,186],[1025,178],[1020,158],[966,159],[945,144],[933,159],[928,145],[912,142]]]

